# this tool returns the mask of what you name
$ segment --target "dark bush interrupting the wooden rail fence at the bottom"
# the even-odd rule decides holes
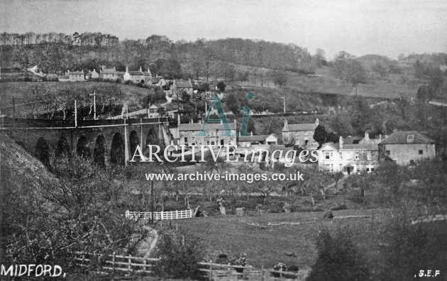
[[[199,238],[162,230],[158,242],[161,260],[155,265],[155,273],[160,277],[202,279],[199,262],[204,260],[204,254],[204,244]]]

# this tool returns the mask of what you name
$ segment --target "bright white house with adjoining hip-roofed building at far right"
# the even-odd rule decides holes
[[[368,132],[357,144],[325,143],[318,150],[321,169],[343,172],[374,172],[379,161],[391,160],[397,165],[414,165],[416,161],[436,157],[434,140],[416,131],[397,131],[389,137],[371,139]]]

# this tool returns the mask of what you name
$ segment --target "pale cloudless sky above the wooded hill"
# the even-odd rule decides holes
[[[356,56],[447,53],[446,0],[1,0],[0,32],[244,38]]]

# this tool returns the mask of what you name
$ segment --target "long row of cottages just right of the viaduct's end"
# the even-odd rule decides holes
[[[236,145],[236,120],[228,123],[233,136],[221,136],[226,133],[222,123],[207,123],[205,133],[208,136],[196,136],[202,130],[202,123],[186,123],[179,126],[179,144],[195,145]]]

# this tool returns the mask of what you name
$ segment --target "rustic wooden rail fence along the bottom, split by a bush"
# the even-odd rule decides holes
[[[97,263],[93,270],[96,273],[106,272],[123,272],[146,273],[153,271],[151,268],[160,258],[142,258],[131,255],[104,255],[94,253],[75,252],[75,264],[82,268],[89,268],[92,264]],[[209,280],[236,280],[243,278],[244,280],[305,280],[310,270],[310,265],[301,265],[297,272],[287,272],[280,270],[267,270],[264,268],[253,268],[250,265],[224,265],[219,263],[199,263],[200,271]]]

